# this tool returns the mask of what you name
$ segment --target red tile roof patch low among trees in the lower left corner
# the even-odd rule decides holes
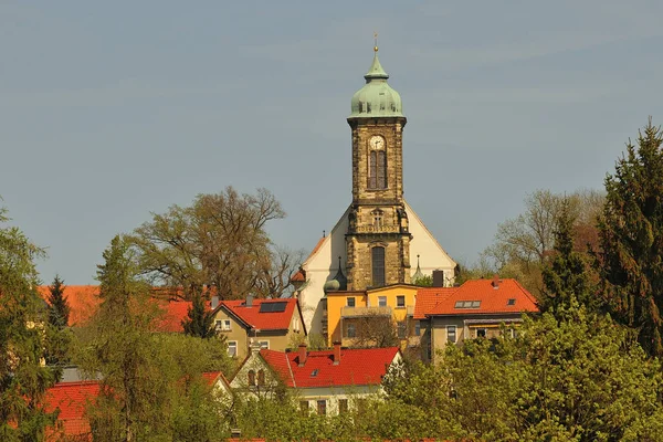
[[[57,420],[66,436],[82,436],[90,433],[90,421],[85,415],[88,401],[94,401],[99,393],[97,381],[62,382],[46,390],[45,410],[60,410]],[[92,439],[92,438],[91,438]]]

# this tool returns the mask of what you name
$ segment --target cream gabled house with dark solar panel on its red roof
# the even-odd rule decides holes
[[[252,343],[285,351],[306,337],[299,303],[295,298],[221,301],[213,311],[217,330],[224,335],[231,356],[243,359]],[[296,344],[295,344],[296,345]]]

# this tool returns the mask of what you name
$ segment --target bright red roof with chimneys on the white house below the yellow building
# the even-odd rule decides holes
[[[267,365],[292,388],[378,386],[398,347],[343,348],[340,362],[334,365],[334,350],[308,351],[299,367],[298,351],[261,350]]]

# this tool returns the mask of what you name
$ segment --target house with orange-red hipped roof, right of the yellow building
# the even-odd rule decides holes
[[[413,319],[420,323],[424,360],[465,339],[515,336],[524,313],[538,313],[535,297],[516,280],[473,280],[454,288],[420,288]]]

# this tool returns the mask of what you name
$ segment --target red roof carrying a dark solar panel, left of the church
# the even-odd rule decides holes
[[[269,303],[286,303],[283,312],[261,312],[260,306]],[[221,301],[220,308],[225,308],[244,324],[260,330],[286,330],[290,328],[293,314],[296,312],[297,299],[276,298],[276,299],[253,299],[251,307],[246,306],[245,301]]]

